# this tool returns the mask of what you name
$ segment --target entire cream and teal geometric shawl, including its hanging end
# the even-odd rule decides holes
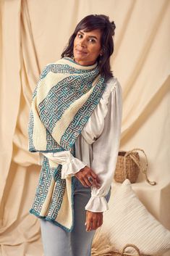
[[[30,152],[60,152],[75,155],[75,140],[101,99],[106,80],[97,62],[82,66],[69,57],[44,67],[33,92],[28,141]],[[61,165],[47,157],[43,164],[30,209],[44,218],[72,231],[74,182],[61,179]]]

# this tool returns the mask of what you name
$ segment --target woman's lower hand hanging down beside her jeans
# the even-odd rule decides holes
[[[103,212],[90,212],[86,210],[86,231],[99,228],[103,224]]]

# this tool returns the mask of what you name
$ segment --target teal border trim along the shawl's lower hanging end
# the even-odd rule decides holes
[[[72,229],[74,228],[74,224],[75,224],[74,189],[75,189],[75,179],[72,177],[72,226],[71,226],[71,228],[66,228],[65,226],[61,225],[58,221],[53,220],[53,219],[49,218],[48,216],[39,215],[38,212],[35,212],[35,210],[33,210],[33,208],[31,208],[29,210],[29,212],[31,214],[35,215],[35,217],[37,217],[37,218],[48,220],[49,222],[53,223],[54,225],[59,226],[60,228],[64,229],[64,231],[72,232]]]

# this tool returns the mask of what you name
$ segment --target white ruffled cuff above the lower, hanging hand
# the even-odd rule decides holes
[[[85,206],[85,210],[89,210],[90,212],[106,212],[106,210],[109,210],[109,206],[105,197],[92,195],[88,204]]]

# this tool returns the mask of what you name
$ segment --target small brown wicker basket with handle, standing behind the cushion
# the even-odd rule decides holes
[[[140,156],[137,151],[143,152],[145,155],[145,166],[141,165]],[[145,174],[146,181],[150,185],[156,185],[155,181],[149,181],[146,173],[147,168],[148,159],[143,149],[132,149],[128,152],[119,151],[116,162],[116,170],[114,173],[114,180],[116,182],[122,183],[126,178],[128,178],[131,183],[135,183],[141,170],[142,173]]]

